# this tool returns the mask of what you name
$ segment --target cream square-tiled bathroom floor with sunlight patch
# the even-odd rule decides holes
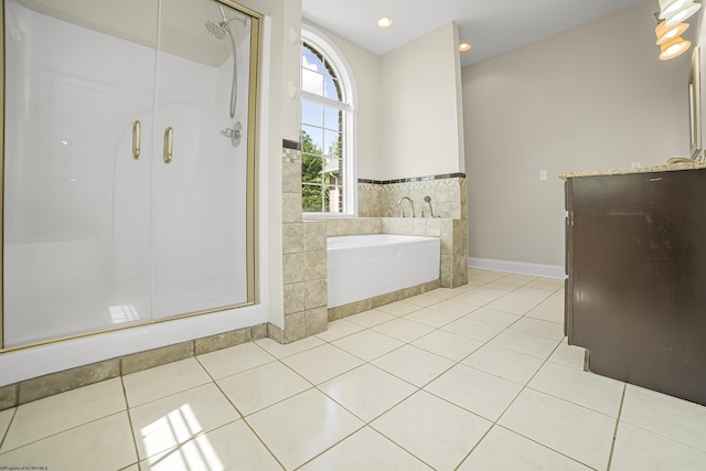
[[[1,411],[0,469],[706,469],[706,407],[584,372],[559,280],[469,275]]]

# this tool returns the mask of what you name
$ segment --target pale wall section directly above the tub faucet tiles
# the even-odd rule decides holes
[[[462,171],[459,67],[454,23],[382,56],[383,158],[370,178]]]

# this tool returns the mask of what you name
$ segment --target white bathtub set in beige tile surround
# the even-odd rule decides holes
[[[439,278],[438,237],[372,234],[328,237],[329,308]]]

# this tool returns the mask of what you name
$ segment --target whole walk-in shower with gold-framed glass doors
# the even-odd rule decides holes
[[[261,17],[3,3],[0,349],[256,302]]]

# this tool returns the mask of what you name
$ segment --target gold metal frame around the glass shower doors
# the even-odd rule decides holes
[[[189,312],[173,315],[165,319],[137,322],[129,325],[101,329],[81,334],[66,335],[46,341],[32,342],[7,349],[4,345],[4,0],[0,8],[0,354],[30,349],[67,340],[99,335],[104,333],[117,332],[126,329],[133,329],[145,325],[159,324],[175,321],[179,319],[192,318],[196,315],[222,312],[238,308],[244,308],[260,302],[259,299],[259,214],[258,204],[258,171],[259,171],[259,138],[260,138],[260,103],[261,103],[261,53],[263,53],[263,28],[261,22],[265,17],[245,6],[232,0],[215,0],[250,18],[250,64],[249,64],[249,89],[248,89],[248,129],[247,129],[247,189],[246,189],[246,264],[247,264],[247,301],[240,304],[225,306],[203,311]]]

